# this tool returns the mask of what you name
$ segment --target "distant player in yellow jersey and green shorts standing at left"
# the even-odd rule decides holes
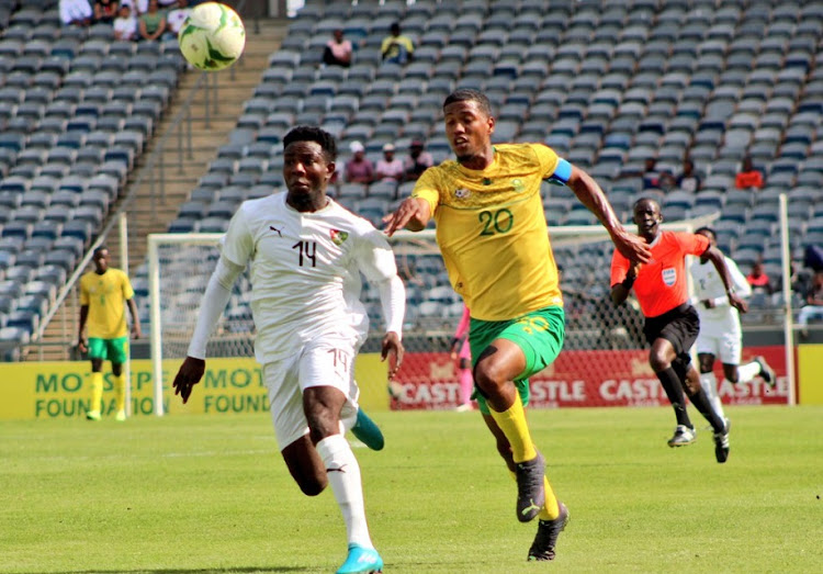
[[[114,375],[115,417],[126,419],[126,380],[123,364],[128,357],[128,326],[126,305],[132,313],[132,335],[139,339],[140,318],[134,303],[134,290],[128,277],[109,267],[109,249],[100,246],[92,256],[94,271],[80,278],[80,326],[78,349],[91,359],[91,406],[89,420],[100,420],[103,398],[103,361],[112,362]],[[125,304],[124,304],[125,303]],[[83,329],[88,327],[88,339]]]

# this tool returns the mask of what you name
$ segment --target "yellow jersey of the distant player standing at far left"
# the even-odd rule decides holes
[[[128,335],[125,302],[134,296],[128,277],[120,269],[98,274],[89,271],[80,278],[80,305],[89,306],[87,336],[116,339]]]

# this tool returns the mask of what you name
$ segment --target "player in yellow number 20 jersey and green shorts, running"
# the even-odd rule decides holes
[[[471,309],[469,340],[477,404],[517,481],[517,518],[540,518],[529,560],[553,560],[568,519],[544,474],[523,406],[528,378],[563,346],[565,319],[540,183],[568,185],[633,261],[649,248],[620,224],[600,187],[542,144],[492,145],[495,119],[482,92],[461,89],[443,103],[456,161],[427,169],[412,196],[384,218],[386,233],[420,230],[432,214],[454,290]]]

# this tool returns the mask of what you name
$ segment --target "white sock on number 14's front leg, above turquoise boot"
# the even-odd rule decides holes
[[[331,492],[340,507],[349,543],[373,549],[369,527],[365,524],[363,486],[351,446],[342,435],[331,435],[317,443],[317,452],[326,466]]]

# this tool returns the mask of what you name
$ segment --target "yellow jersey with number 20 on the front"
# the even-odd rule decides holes
[[[560,158],[542,144],[494,149],[482,171],[455,160],[427,169],[412,196],[431,206],[449,281],[472,317],[507,320],[563,304],[540,198]]]

